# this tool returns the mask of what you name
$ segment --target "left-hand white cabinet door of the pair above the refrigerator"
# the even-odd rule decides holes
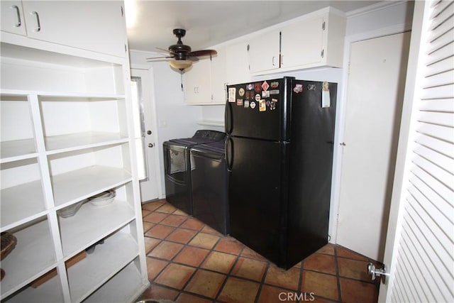
[[[280,31],[272,31],[249,41],[249,71],[265,72],[279,68]]]

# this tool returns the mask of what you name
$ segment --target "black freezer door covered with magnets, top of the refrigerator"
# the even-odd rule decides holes
[[[289,140],[287,89],[292,78],[228,86],[226,133],[270,141]]]

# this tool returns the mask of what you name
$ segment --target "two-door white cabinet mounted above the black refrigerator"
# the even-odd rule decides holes
[[[345,13],[332,8],[293,19],[249,40],[252,75],[342,67]]]

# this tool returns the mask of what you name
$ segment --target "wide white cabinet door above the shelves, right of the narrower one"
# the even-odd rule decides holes
[[[28,37],[126,56],[122,1],[23,1]]]

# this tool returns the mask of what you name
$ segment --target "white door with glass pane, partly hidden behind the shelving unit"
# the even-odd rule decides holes
[[[140,111],[140,132],[144,162],[138,163],[139,170],[144,168],[144,178],[140,180],[140,199],[142,202],[158,199],[160,185],[159,151],[157,150],[156,115],[154,99],[150,87],[153,81],[148,70],[131,70],[131,82],[133,82],[133,97],[137,97]]]

